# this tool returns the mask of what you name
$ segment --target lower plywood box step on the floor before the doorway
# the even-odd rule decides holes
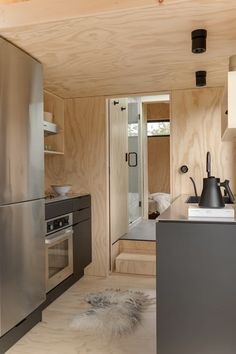
[[[156,256],[154,254],[120,253],[116,257],[116,272],[156,275]]]

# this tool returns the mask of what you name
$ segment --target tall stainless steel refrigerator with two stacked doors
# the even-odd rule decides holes
[[[42,65],[0,38],[0,336],[45,299]]]

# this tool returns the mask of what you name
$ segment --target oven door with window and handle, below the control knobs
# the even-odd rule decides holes
[[[73,229],[68,227],[45,238],[46,291],[73,274]]]

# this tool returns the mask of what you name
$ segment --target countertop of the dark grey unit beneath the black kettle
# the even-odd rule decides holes
[[[214,223],[236,223],[236,213],[234,218],[189,218],[188,217],[188,206],[189,205],[197,205],[197,204],[188,204],[185,203],[186,200],[190,197],[188,194],[182,194],[178,198],[176,198],[173,203],[166,209],[156,220],[161,222],[173,222],[173,221],[180,221],[180,222],[214,222]],[[232,207],[235,209],[236,204],[231,204]]]

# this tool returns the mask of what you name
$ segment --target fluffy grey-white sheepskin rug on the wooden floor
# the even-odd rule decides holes
[[[84,300],[90,308],[77,314],[70,327],[105,336],[131,333],[141,323],[145,308],[155,302],[141,291],[120,289],[91,293]]]

